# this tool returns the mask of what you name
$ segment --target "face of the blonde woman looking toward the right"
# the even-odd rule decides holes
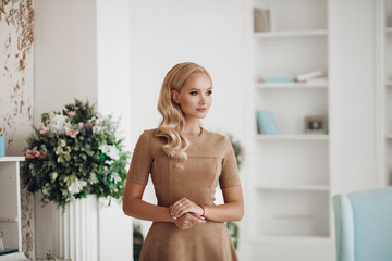
[[[172,97],[180,103],[184,117],[204,119],[212,102],[212,83],[205,73],[193,73],[180,94],[172,90]]]

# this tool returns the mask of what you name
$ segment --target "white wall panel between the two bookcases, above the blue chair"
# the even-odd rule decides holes
[[[377,186],[376,2],[331,3],[332,185],[351,192]]]

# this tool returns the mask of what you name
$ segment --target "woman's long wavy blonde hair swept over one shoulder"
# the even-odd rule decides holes
[[[172,99],[171,92],[172,90],[181,92],[186,79],[194,73],[205,73],[211,79],[205,67],[192,62],[179,63],[167,73],[158,101],[158,111],[162,114],[163,119],[155,136],[167,139],[167,144],[162,149],[166,154],[174,159],[175,166],[180,169],[184,169],[185,161],[187,160],[185,150],[189,146],[189,141],[183,134],[185,127],[183,112],[180,105]]]

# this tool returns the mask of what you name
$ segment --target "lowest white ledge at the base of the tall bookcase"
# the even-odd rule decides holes
[[[277,244],[277,245],[307,245],[330,246],[334,240],[331,237],[320,236],[257,236],[250,238],[253,244]]]

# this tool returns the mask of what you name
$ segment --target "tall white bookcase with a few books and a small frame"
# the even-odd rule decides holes
[[[331,219],[330,136],[305,134],[305,117],[329,115],[329,83],[265,84],[268,74],[329,72],[328,0],[252,0],[253,9],[271,9],[272,32],[249,37],[248,124],[252,129],[252,206],[247,236],[269,260],[284,247],[306,249],[333,245]],[[297,18],[301,17],[301,18]],[[257,133],[256,111],[271,111],[279,134]],[[255,227],[256,224],[256,227]],[[317,251],[314,248],[310,251]],[[321,251],[322,252],[322,251]],[[320,252],[320,256],[322,253]],[[258,257],[259,258],[259,257]],[[296,260],[293,257],[293,260]],[[299,260],[299,259],[298,259]],[[309,260],[311,260],[309,258]],[[322,259],[320,259],[322,260]]]

